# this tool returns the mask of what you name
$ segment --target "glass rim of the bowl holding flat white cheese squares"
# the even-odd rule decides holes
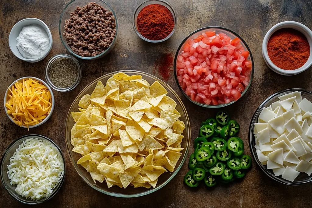
[[[310,177],[310,179],[304,181],[304,182],[291,182],[291,181],[286,181],[282,178],[279,178],[277,176],[275,176],[274,174],[272,174],[268,169],[266,169],[261,162],[259,162],[258,158],[256,157],[256,153],[254,151],[254,147],[251,145],[252,141],[254,140],[254,134],[253,134],[253,127],[254,127],[254,123],[253,122],[256,119],[256,115],[260,113],[260,111],[264,108],[264,106],[267,104],[268,101],[270,101],[272,98],[278,96],[279,94],[285,93],[285,92],[295,92],[295,91],[299,91],[299,92],[304,92],[307,94],[310,94],[312,96],[312,92],[307,90],[307,89],[302,89],[302,88],[291,88],[291,89],[284,89],[281,91],[278,91],[272,95],[270,95],[268,98],[266,98],[260,105],[259,107],[256,109],[255,113],[253,114],[253,116],[251,117],[251,121],[249,124],[249,130],[248,130],[248,143],[249,143],[249,149],[251,152],[251,155],[254,159],[254,161],[257,163],[257,165],[260,167],[260,169],[262,170],[262,172],[264,172],[268,177],[270,177],[271,179],[280,182],[282,184],[285,185],[290,185],[290,186],[300,186],[300,185],[304,185],[306,183],[309,183],[312,181],[312,177]]]

